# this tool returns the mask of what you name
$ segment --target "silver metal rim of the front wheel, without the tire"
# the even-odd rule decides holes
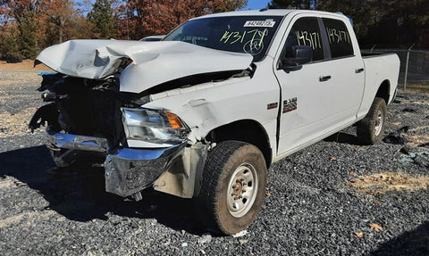
[[[244,216],[257,198],[257,170],[249,163],[242,163],[231,175],[226,200],[228,210],[235,218]]]

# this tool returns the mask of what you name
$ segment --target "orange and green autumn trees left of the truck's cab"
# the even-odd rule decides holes
[[[0,0],[0,57],[35,58],[75,38],[140,39],[190,18],[242,8],[247,0]]]

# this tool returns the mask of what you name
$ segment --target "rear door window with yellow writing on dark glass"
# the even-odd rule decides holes
[[[332,58],[339,58],[353,55],[353,45],[351,44],[349,31],[342,21],[332,19],[322,19],[324,29],[328,35],[329,46]]]

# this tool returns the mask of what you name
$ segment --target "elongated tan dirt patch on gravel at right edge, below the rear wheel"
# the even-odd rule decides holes
[[[429,177],[413,177],[405,173],[383,172],[353,178],[348,185],[360,193],[385,194],[389,191],[427,189]]]

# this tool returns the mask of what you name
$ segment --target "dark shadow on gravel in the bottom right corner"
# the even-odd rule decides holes
[[[429,255],[429,222],[426,221],[413,231],[391,239],[381,247],[371,252],[372,256],[427,256]]]

